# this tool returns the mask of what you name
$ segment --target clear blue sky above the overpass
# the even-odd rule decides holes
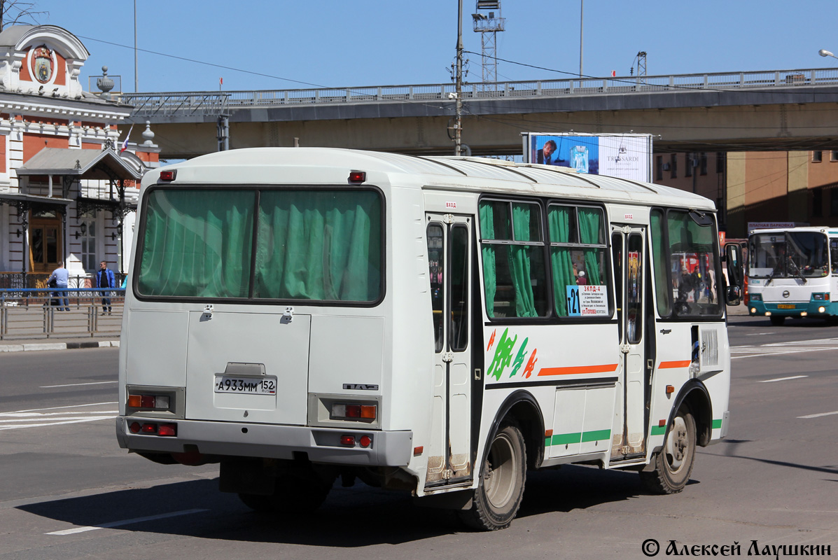
[[[46,12],[30,23],[90,51],[85,90],[103,65],[125,92],[443,84],[456,57],[457,0],[136,0],[135,79],[134,0],[28,1]],[[476,12],[463,0],[467,82],[481,76]],[[579,75],[580,31],[583,75],[629,75],[639,51],[648,75],[838,69],[818,55],[838,55],[835,0],[501,0],[500,15],[501,81]]]

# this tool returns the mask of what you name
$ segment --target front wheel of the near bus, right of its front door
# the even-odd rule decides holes
[[[640,471],[640,480],[654,494],[677,494],[690,480],[696,459],[696,420],[680,407],[666,430],[664,447],[652,459],[654,470]]]

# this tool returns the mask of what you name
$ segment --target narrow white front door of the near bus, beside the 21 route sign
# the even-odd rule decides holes
[[[643,227],[614,227],[612,231],[619,343],[623,355],[614,412],[612,460],[629,459],[645,452],[645,240]]]

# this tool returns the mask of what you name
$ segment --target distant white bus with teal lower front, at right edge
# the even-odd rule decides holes
[[[829,227],[752,230],[747,237],[751,315],[838,318],[838,231]]]

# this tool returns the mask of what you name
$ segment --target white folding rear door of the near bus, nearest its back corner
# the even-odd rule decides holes
[[[434,329],[432,440],[426,485],[471,478],[471,237],[473,220],[427,215]]]

